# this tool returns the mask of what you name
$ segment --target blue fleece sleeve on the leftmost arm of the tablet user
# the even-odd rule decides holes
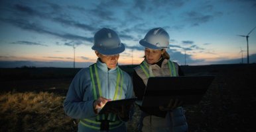
[[[75,119],[84,119],[97,116],[94,113],[93,103],[94,100],[86,100],[84,101],[84,93],[86,88],[88,88],[90,83],[86,82],[86,77],[84,72],[79,72],[73,79],[70,84],[70,88],[68,89],[68,93],[66,95],[66,99],[64,100],[64,111],[65,113],[73,117]],[[89,79],[90,80],[90,79]]]

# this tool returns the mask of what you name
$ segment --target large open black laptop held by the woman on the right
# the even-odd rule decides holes
[[[150,77],[141,106],[166,106],[170,99],[182,101],[182,106],[198,104],[214,76]]]

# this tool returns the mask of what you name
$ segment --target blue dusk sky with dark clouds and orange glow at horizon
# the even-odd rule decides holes
[[[139,40],[156,27],[170,35],[179,65],[247,63],[245,37],[256,26],[255,0],[0,1],[0,67],[88,67],[94,34],[111,28],[125,44],[119,65],[139,64]],[[249,34],[256,63],[256,29]]]

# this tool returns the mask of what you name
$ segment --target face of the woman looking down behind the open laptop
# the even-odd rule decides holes
[[[149,64],[157,63],[157,61],[159,61],[164,51],[165,49],[145,48],[145,57],[146,57],[147,63]]]

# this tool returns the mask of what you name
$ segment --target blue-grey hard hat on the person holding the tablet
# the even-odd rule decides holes
[[[103,55],[116,55],[125,51],[125,45],[114,30],[101,28],[94,35],[94,46],[92,49]]]

